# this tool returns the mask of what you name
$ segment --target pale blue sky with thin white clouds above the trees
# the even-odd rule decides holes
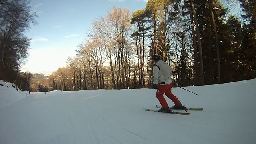
[[[66,66],[68,57],[75,56],[77,46],[88,34],[91,22],[106,16],[113,6],[131,12],[145,8],[148,0],[31,0],[38,14],[37,26],[26,33],[32,38],[29,57],[21,71],[50,74]]]

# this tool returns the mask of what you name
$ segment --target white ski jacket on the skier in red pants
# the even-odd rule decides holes
[[[172,69],[169,64],[158,60],[153,66],[153,84],[166,85],[172,83]]]

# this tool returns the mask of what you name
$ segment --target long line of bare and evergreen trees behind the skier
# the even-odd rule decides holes
[[[135,12],[113,7],[91,23],[67,66],[48,77],[49,90],[150,88],[153,54],[172,67],[174,86],[256,78],[256,2],[236,3],[236,16],[219,0],[148,0]]]

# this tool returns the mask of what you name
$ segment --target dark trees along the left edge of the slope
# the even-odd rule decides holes
[[[19,70],[30,49],[25,32],[36,25],[37,17],[28,4],[28,0],[0,0],[0,79],[19,87],[28,85]]]

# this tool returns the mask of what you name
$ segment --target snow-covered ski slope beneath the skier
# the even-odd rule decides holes
[[[256,143],[256,79],[186,87],[198,95],[173,88],[186,107],[204,108],[188,116],[144,111],[159,104],[154,89],[28,95],[6,85],[0,86],[0,144]]]

